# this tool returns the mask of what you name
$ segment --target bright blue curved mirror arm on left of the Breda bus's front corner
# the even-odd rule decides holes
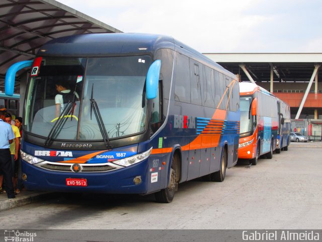
[[[34,61],[17,62],[8,69],[8,71],[6,73],[6,79],[5,79],[6,95],[8,95],[8,96],[14,95],[16,73],[23,68],[31,67],[33,62]]]

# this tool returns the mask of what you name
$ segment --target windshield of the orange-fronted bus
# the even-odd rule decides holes
[[[240,96],[240,134],[252,131],[251,96]]]

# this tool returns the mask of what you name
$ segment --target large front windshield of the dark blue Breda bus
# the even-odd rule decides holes
[[[150,56],[43,57],[39,74],[29,82],[26,131],[47,137],[58,116],[57,83],[73,95],[73,107],[52,135],[58,140],[102,140],[91,101],[98,106],[110,139],[141,133],[146,127],[145,78]],[[56,90],[55,90],[56,89]],[[66,96],[66,95],[62,95]],[[142,100],[144,98],[144,100]],[[58,104],[59,105],[59,104]],[[61,105],[67,105],[65,100]]]

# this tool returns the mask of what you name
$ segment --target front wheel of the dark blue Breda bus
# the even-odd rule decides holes
[[[171,168],[170,168],[169,186],[154,194],[156,202],[158,203],[172,202],[173,198],[175,197],[176,189],[178,187],[178,183],[177,183],[178,167],[179,166],[178,166],[177,156],[174,155],[174,157],[172,158]]]

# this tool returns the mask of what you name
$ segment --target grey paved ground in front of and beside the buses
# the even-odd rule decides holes
[[[322,143],[291,143],[288,151],[246,168],[239,162],[223,183],[189,181],[170,204],[152,195],[88,196],[21,205],[0,195],[1,228],[25,229],[319,229],[322,224]],[[43,194],[41,194],[43,195]],[[47,195],[43,195],[47,196]],[[9,201],[9,202],[8,202]],[[26,222],[28,221],[28,222]]]

